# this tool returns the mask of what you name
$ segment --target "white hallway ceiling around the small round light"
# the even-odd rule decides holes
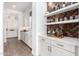
[[[16,8],[12,6],[16,5]],[[27,8],[32,7],[32,2],[4,2],[4,8],[15,9],[19,11],[24,11]]]

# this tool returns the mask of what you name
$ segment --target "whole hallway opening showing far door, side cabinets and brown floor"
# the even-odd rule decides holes
[[[28,17],[29,13],[26,13],[28,14],[26,15],[28,19],[25,19],[24,16],[24,10],[28,10],[31,5],[31,2],[4,2],[4,56],[32,56],[32,38],[30,35],[31,27],[30,19]],[[29,21],[29,23],[26,24],[26,21]],[[23,29],[24,27],[25,29]],[[27,28],[29,29],[27,30]]]

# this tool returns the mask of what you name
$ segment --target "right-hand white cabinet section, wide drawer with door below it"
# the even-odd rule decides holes
[[[51,56],[75,56],[75,46],[51,41]]]

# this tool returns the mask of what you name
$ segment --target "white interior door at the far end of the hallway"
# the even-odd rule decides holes
[[[17,37],[17,18],[15,14],[8,14],[6,19],[6,37]]]

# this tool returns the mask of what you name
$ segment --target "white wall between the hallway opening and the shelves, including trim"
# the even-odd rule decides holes
[[[33,2],[32,4],[32,54],[38,55],[38,35],[46,35],[45,2]]]

